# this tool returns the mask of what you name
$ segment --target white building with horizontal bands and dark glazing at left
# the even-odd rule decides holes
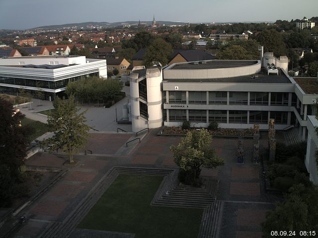
[[[106,60],[84,56],[35,56],[0,59],[0,93],[16,95],[21,88],[42,90],[45,99],[63,96],[66,85],[81,78],[107,78]]]

